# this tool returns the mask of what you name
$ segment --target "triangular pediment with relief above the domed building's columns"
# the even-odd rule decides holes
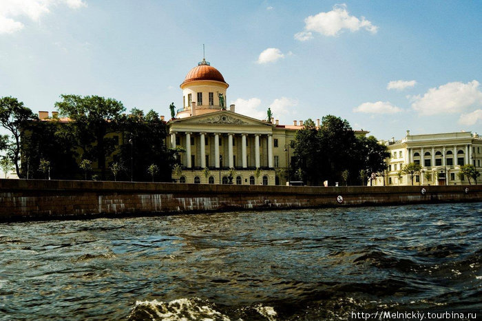
[[[228,110],[220,110],[219,112],[210,112],[208,114],[202,114],[198,116],[191,116],[187,118],[179,118],[174,121],[170,121],[171,125],[193,125],[193,124],[205,124],[205,125],[264,125],[266,127],[274,127],[272,123],[266,121],[260,121],[259,119],[237,114],[235,112],[229,112]]]

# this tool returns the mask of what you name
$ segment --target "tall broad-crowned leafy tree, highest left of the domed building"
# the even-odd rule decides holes
[[[72,130],[78,147],[87,157],[94,156],[105,179],[106,158],[114,152],[115,141],[107,134],[117,132],[118,121],[125,107],[120,101],[101,96],[61,95],[62,101],[55,103],[61,116],[72,122],[67,130]]]

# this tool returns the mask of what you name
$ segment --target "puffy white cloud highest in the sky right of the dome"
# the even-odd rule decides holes
[[[315,16],[309,16],[304,19],[304,23],[304,31],[295,34],[295,39],[300,41],[312,39],[312,32],[336,37],[344,29],[355,32],[364,28],[373,34],[377,33],[378,30],[378,27],[366,20],[365,17],[358,19],[350,16],[345,4],[333,6],[333,10],[328,12],[319,12]]]

